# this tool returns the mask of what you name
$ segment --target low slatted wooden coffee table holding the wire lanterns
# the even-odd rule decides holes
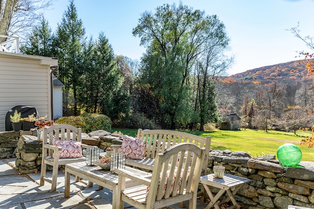
[[[126,166],[126,169],[130,169],[132,172],[137,172],[143,178],[150,178],[152,175],[145,171],[141,171],[135,168]],[[112,208],[115,209],[117,206],[116,191],[118,187],[119,175],[109,171],[103,170],[99,166],[86,165],[85,162],[81,163],[70,163],[65,165],[65,190],[64,197],[70,197],[70,175],[76,175],[82,179],[88,181],[88,186],[93,186],[93,183],[97,184],[100,189],[103,187],[112,190]],[[134,184],[130,179],[126,179],[126,187],[133,186]]]

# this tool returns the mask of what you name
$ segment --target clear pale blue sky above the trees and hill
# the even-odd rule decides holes
[[[231,39],[231,54],[235,63],[228,74],[262,66],[285,63],[300,58],[296,51],[310,51],[305,44],[287,31],[300,23],[303,36],[314,37],[312,21],[314,0],[181,0],[183,5],[217,15],[226,26]],[[75,0],[78,17],[86,36],[98,37],[103,31],[114,53],[140,59],[145,48],[132,35],[140,15],[155,12],[164,3],[178,5],[180,0]],[[61,22],[69,1],[54,0],[45,11],[52,31]],[[312,52],[312,51],[310,51]]]

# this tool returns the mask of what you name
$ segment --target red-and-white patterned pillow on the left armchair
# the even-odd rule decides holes
[[[60,151],[59,158],[80,158],[82,156],[81,143],[78,141],[59,141],[53,140],[53,146],[60,146],[62,150]]]

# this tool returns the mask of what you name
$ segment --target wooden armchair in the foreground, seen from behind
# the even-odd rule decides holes
[[[160,209],[189,200],[189,209],[196,209],[204,157],[205,148],[183,142],[157,154],[151,179],[116,169],[119,180],[117,195],[113,198],[117,198],[118,208],[123,209],[126,202],[138,209]],[[139,186],[125,188],[126,178],[138,182]]]

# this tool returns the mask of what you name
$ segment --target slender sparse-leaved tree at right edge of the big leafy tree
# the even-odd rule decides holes
[[[229,38],[223,23],[216,16],[206,18],[204,26],[206,34],[210,37],[204,40],[204,44],[198,50],[202,51],[196,61],[197,97],[195,100],[195,112],[199,113],[200,131],[204,131],[204,124],[216,122],[217,108],[215,103],[214,80],[219,75],[224,75],[231,65],[233,58],[225,56],[229,49]]]

